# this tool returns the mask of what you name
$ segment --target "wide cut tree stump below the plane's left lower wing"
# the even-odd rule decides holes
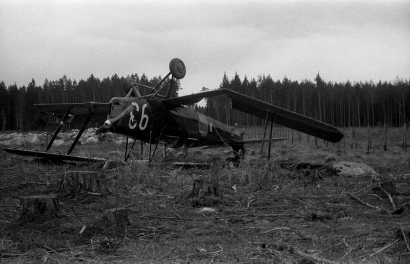
[[[66,171],[60,189],[67,194],[101,191],[103,185],[96,171]]]

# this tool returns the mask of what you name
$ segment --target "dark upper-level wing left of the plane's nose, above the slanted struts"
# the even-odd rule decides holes
[[[78,103],[78,104],[37,104],[34,105],[40,112],[54,114],[62,117],[67,111],[72,115],[89,115],[97,116],[108,115],[110,110],[108,103]]]

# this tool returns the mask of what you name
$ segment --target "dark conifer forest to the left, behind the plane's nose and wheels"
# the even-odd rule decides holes
[[[154,76],[151,79],[145,74],[131,74],[137,83],[154,87],[162,79]],[[0,131],[16,130],[25,131],[44,128],[50,116],[39,113],[34,104],[67,104],[85,103],[94,101],[108,103],[112,97],[125,96],[122,84],[125,77],[117,74],[99,79],[93,74],[86,80],[71,80],[66,75],[58,80],[46,79],[41,86],[37,86],[32,79],[27,86],[17,87],[16,84],[6,87],[4,81],[0,82]],[[171,96],[178,96],[179,81],[174,82]],[[140,86],[142,96],[152,93],[151,89]],[[162,89],[159,94],[166,95],[167,89]]]

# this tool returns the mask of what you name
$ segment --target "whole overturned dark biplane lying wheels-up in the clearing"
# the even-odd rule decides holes
[[[4,148],[5,151],[21,155],[55,158],[75,161],[101,161],[99,158],[87,158],[71,155],[81,134],[90,123],[90,120],[100,116],[107,116],[104,125],[96,133],[110,131],[127,136],[125,159],[127,154],[128,138],[141,140],[149,144],[150,159],[151,145],[165,144],[169,148],[229,146],[238,159],[243,154],[244,145],[260,143],[265,139],[244,139],[244,132],[228,126],[207,115],[186,107],[198,103],[203,98],[227,96],[231,99],[233,109],[265,119],[265,124],[276,123],[327,141],[336,143],[343,138],[343,134],[335,127],[301,114],[265,103],[264,101],[237,93],[229,89],[204,91],[197,94],[170,98],[175,79],[181,79],[186,74],[182,60],[171,60],[170,72],[153,88],[141,84],[130,77],[124,80],[125,97],[114,97],[110,103],[79,103],[79,104],[40,104],[35,107],[42,112],[60,117],[53,137],[45,152],[17,150]],[[169,78],[171,76],[171,78]],[[141,96],[139,87],[152,90],[151,94]],[[159,90],[168,87],[167,95],[160,95]],[[79,130],[67,154],[47,152],[53,144],[60,128],[72,116],[86,116],[83,127]],[[269,142],[282,139],[267,139]],[[131,147],[131,149],[132,149]],[[156,147],[155,147],[156,149]],[[155,151],[154,151],[155,153]]]

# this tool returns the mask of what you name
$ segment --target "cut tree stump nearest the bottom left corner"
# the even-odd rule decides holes
[[[37,219],[51,219],[60,216],[60,206],[57,196],[35,195],[20,197],[20,207],[18,221],[29,222]]]

